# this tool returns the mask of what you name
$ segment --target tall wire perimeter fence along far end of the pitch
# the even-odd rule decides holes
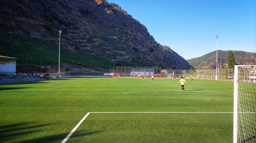
[[[48,67],[48,71],[56,72],[58,67]],[[84,75],[84,76],[113,76],[119,75],[121,77],[139,77],[151,76],[152,74],[160,74],[161,78],[179,78],[179,76],[185,76],[190,78],[192,76],[200,79],[215,80],[216,69],[205,70],[176,70],[176,69],[162,69],[161,67],[132,67],[132,66],[113,66],[113,68],[101,68],[101,67],[61,67],[61,76],[68,75]],[[233,81],[234,69],[218,69],[218,80],[221,81]]]

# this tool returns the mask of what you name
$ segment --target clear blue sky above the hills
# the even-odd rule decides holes
[[[184,59],[218,50],[256,53],[256,0],[108,0]]]

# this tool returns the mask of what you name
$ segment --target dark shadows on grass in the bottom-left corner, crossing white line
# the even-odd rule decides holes
[[[33,125],[34,123],[17,123],[0,126],[0,142],[9,142],[9,143],[49,143],[49,142],[61,142],[69,134],[69,132],[62,134],[54,135],[42,135],[41,137],[33,137],[30,134],[35,134],[42,132],[42,127],[50,126],[52,124],[41,124]],[[71,137],[79,137],[97,134],[101,131],[86,132],[86,131],[77,131]],[[28,137],[31,136],[31,137]],[[29,138],[29,139],[22,139]],[[20,140],[19,140],[20,139]],[[16,141],[14,141],[16,140]],[[18,140],[18,141],[17,141]]]

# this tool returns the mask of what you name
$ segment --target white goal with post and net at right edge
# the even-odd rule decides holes
[[[256,143],[256,65],[235,65],[233,143]]]

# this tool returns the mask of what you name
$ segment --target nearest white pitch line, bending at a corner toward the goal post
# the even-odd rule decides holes
[[[67,140],[76,131],[76,129],[81,125],[81,123],[83,123],[85,118],[87,118],[90,113],[220,113],[220,114],[223,114],[223,113],[233,113],[233,112],[88,112],[84,116],[84,118],[82,118],[81,121],[74,127],[74,129],[72,129],[72,131],[67,135],[67,137],[65,137],[64,140],[62,140],[61,143],[67,142]]]

